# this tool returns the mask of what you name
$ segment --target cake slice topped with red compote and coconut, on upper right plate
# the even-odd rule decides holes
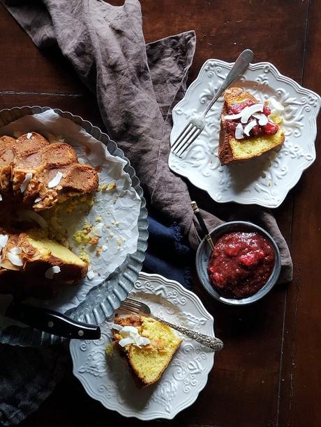
[[[249,160],[284,141],[282,119],[272,116],[266,103],[241,88],[225,91],[218,158],[221,164]]]

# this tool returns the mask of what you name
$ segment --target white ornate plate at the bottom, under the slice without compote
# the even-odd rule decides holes
[[[141,272],[133,295],[160,317],[214,336],[212,316],[177,281]],[[89,396],[125,417],[142,420],[172,419],[196,400],[213,367],[213,351],[182,336],[184,341],[160,380],[140,390],[119,355],[105,356],[111,325],[108,321],[100,325],[102,336],[97,341],[70,341],[73,373]]]

